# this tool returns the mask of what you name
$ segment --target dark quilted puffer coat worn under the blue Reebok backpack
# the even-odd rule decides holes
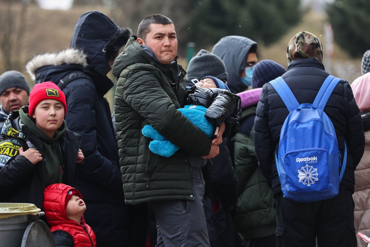
[[[298,59],[290,62],[283,74],[297,101],[313,103],[317,92],[329,74],[323,64],[314,59]],[[354,170],[364,152],[364,129],[359,107],[347,81],[340,81],[330,96],[324,112],[332,120],[342,157],[344,156],[344,139],[347,143],[347,166],[344,171],[341,187],[354,191]],[[279,176],[276,170],[274,151],[279,144],[281,127],[288,116],[280,96],[270,83],[263,86],[255,119],[254,143],[260,168],[266,180],[272,181],[274,196],[281,193]],[[310,138],[308,136],[302,138]]]

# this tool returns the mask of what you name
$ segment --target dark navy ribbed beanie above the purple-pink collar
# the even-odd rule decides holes
[[[262,87],[285,72],[286,69],[275,61],[262,60],[253,67],[252,87],[253,89]]]

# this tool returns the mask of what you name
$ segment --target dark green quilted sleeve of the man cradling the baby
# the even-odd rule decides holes
[[[125,102],[171,143],[195,156],[208,155],[211,139],[176,110],[160,80],[155,69],[135,67],[123,86]]]

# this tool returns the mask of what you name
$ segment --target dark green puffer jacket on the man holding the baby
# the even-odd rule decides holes
[[[176,110],[184,104],[186,72],[176,61],[159,64],[136,39],[130,37],[113,66],[118,80],[114,111],[125,203],[194,200],[188,157],[208,155],[212,141]],[[153,154],[151,139],[141,133],[147,124],[181,149],[169,158]]]

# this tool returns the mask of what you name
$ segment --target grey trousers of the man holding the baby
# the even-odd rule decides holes
[[[205,184],[201,168],[206,160],[189,157],[189,163],[193,169],[194,200],[149,202],[157,218],[156,247],[210,246],[202,203]]]

